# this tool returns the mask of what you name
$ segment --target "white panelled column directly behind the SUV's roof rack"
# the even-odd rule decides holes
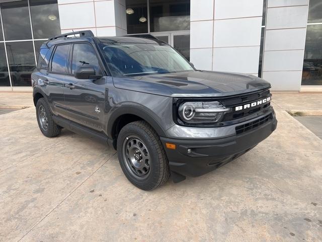
[[[126,35],[125,0],[58,0],[61,33],[92,30],[96,36]]]

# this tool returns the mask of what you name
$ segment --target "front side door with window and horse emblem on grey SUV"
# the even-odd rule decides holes
[[[64,87],[64,116],[97,131],[104,130],[106,77],[81,80],[74,76],[75,71],[81,67],[93,67],[96,75],[103,75],[98,54],[92,44],[74,43],[69,65]]]

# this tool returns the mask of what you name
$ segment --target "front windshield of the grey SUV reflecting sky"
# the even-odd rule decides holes
[[[100,48],[113,76],[131,77],[194,70],[169,45],[102,43]]]

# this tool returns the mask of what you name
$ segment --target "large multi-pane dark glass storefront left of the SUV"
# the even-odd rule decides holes
[[[40,45],[60,33],[57,0],[1,3],[0,13],[0,86],[31,86]]]

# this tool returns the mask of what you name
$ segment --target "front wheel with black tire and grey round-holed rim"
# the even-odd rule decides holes
[[[145,121],[133,122],[121,129],[117,153],[123,173],[137,188],[152,190],[169,179],[169,162],[163,144]]]

